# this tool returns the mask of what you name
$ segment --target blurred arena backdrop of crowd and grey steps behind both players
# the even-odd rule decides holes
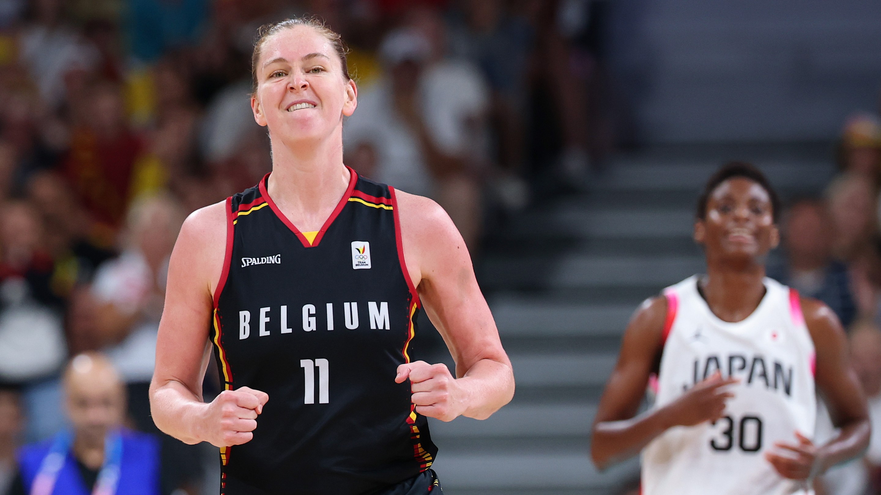
[[[352,50],[346,163],[447,209],[514,362],[513,403],[432,425],[445,492],[633,491],[638,460],[589,462],[593,411],[635,307],[703,270],[694,204],[732,159],[786,200],[769,274],[839,314],[881,433],[876,0],[0,0],[0,494],[65,424],[78,352],[160,435],[168,255],[270,171],[252,43],[304,13]],[[449,361],[422,323],[421,357]],[[217,449],[161,441],[163,493],[218,492]],[[881,434],[825,493],[881,493],[879,466]]]

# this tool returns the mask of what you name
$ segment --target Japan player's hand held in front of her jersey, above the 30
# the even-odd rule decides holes
[[[693,426],[719,419],[725,412],[725,403],[734,396],[726,387],[739,381],[713,373],[664,407],[670,426]]]

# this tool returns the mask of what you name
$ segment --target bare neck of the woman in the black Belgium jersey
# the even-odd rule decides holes
[[[308,145],[272,140],[272,174],[267,192],[278,209],[303,232],[319,230],[349,187],[342,135]]]

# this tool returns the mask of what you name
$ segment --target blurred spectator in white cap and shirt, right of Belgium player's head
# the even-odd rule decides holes
[[[357,153],[375,156],[376,164],[370,166],[375,178],[433,197],[474,253],[482,222],[481,193],[469,159],[467,125],[469,112],[480,113],[479,79],[460,70],[458,84],[444,85],[442,70],[430,70],[431,43],[413,27],[389,33],[380,55],[388,77],[359,94],[359,108],[344,130],[347,151],[373,148]]]

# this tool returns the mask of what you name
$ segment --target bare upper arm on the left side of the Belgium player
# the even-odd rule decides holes
[[[201,396],[208,336],[226,256],[226,203],[194,211],[181,226],[168,262],[153,386],[181,382]]]

